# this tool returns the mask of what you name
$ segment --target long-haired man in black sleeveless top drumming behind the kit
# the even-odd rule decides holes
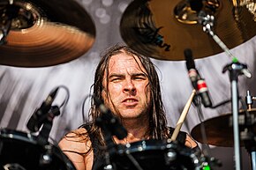
[[[128,132],[124,139],[113,136],[114,144],[171,137],[174,129],[167,126],[159,78],[147,56],[122,44],[108,48],[97,66],[92,88],[90,122],[67,133],[59,142],[61,150],[78,170],[97,169],[103,164],[106,143],[102,129],[95,123],[102,112],[94,99],[109,107]],[[198,147],[192,137],[182,131],[177,141],[190,148]]]

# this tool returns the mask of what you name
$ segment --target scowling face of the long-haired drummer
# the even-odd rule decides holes
[[[115,115],[119,113],[123,120],[147,115],[150,103],[148,78],[137,57],[124,53],[111,56],[108,79],[107,82],[105,74],[103,86],[109,90],[109,97],[105,91],[102,96]],[[107,84],[109,89],[106,89]]]

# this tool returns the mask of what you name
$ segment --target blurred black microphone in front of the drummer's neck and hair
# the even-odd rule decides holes
[[[102,104],[102,102],[97,98],[94,97],[94,101],[96,107],[98,107],[102,112],[102,116],[97,119],[97,122],[100,125],[105,125],[113,135],[117,136],[118,139],[121,140],[124,139],[124,137],[127,137],[127,130],[124,129],[124,126],[119,122],[117,116],[113,115],[109,108]]]

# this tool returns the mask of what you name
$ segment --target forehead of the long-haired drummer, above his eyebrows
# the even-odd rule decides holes
[[[128,55],[124,52],[112,55],[109,59],[109,73],[113,71],[146,71],[136,55]]]

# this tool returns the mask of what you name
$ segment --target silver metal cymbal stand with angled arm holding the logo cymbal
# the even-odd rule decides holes
[[[215,23],[214,15],[207,14],[206,11],[201,10],[198,14],[198,21],[203,26],[203,31],[212,36],[214,41],[223,49],[223,51],[233,57],[232,63],[227,64],[222,72],[230,70],[230,82],[231,82],[231,96],[232,96],[232,113],[233,113],[233,130],[234,130],[234,150],[235,150],[235,167],[241,169],[240,165],[240,144],[239,144],[239,128],[238,128],[238,89],[237,79],[241,74],[245,74],[246,77],[251,78],[251,73],[247,70],[245,64],[239,63],[237,58],[231,54],[230,49],[221,41],[221,39],[214,33],[213,27]]]

